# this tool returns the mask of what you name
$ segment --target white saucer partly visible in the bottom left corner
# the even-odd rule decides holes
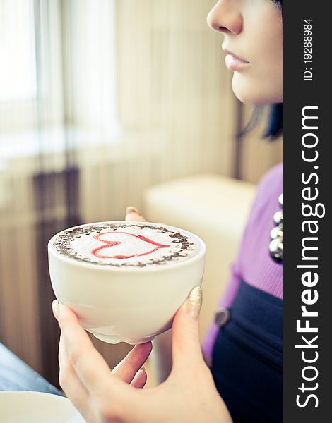
[[[68,398],[30,391],[0,392],[1,423],[85,423]]]

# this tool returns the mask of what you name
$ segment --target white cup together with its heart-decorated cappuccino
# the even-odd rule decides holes
[[[203,277],[203,241],[160,223],[88,223],[54,235],[48,250],[57,299],[109,343],[143,343],[169,329]]]

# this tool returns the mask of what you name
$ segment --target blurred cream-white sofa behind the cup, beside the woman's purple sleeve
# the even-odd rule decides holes
[[[255,190],[256,186],[251,183],[202,174],[156,185],[144,194],[143,214],[148,221],[184,228],[196,233],[206,243],[201,341],[227,283],[230,264],[237,255]],[[156,382],[165,379],[170,367],[170,362],[167,363],[168,338],[170,333],[154,341],[155,353],[151,361],[157,372]]]

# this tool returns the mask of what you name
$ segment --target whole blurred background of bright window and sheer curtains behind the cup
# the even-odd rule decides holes
[[[122,220],[151,185],[256,183],[281,161],[262,127],[237,142],[251,109],[206,25],[214,3],[0,0],[0,341],[54,384],[54,233]],[[111,365],[128,350],[98,348]]]

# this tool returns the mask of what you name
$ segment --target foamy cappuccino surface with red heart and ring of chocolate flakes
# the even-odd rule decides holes
[[[156,223],[106,222],[66,229],[54,239],[61,255],[116,267],[182,262],[200,250],[196,237]]]

